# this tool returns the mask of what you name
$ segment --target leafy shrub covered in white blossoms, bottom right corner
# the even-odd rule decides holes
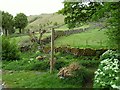
[[[120,61],[119,55],[114,51],[108,50],[102,54],[99,68],[95,72],[95,88],[120,88],[117,84],[120,79]]]

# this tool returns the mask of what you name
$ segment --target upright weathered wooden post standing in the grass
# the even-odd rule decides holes
[[[53,64],[54,64],[54,28],[51,31],[51,60],[50,60],[50,73],[53,72]]]

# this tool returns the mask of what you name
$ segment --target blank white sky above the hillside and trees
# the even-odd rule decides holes
[[[13,16],[18,13],[39,15],[54,13],[62,9],[64,0],[0,0],[0,10],[7,11]]]

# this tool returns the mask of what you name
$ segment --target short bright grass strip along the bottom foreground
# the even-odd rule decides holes
[[[9,88],[80,88],[60,80],[57,73],[38,71],[3,71],[3,82]]]

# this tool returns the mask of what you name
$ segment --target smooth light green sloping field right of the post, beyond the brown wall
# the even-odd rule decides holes
[[[55,40],[55,46],[67,46],[78,48],[109,48],[105,30],[89,30],[79,34],[63,36]]]

